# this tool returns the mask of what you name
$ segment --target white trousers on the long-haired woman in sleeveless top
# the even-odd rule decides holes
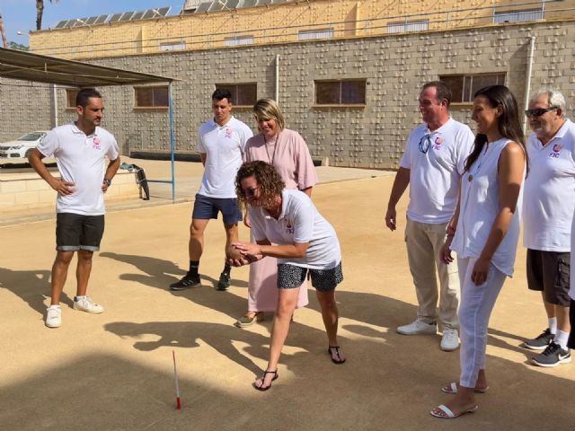
[[[474,258],[457,259],[461,284],[459,384],[464,388],[474,388],[479,370],[485,369],[489,318],[506,277],[498,268],[491,265],[485,283],[476,286],[471,281],[476,260]]]

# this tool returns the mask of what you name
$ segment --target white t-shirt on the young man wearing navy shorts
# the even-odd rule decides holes
[[[236,198],[235,175],[242,166],[243,148],[253,136],[239,119],[224,126],[211,119],[199,128],[198,152],[206,154],[206,167],[199,194],[208,198]]]

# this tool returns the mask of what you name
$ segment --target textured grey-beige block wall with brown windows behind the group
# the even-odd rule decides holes
[[[314,157],[328,157],[338,166],[396,168],[412,128],[420,123],[417,97],[421,84],[438,75],[504,72],[506,82],[523,105],[526,59],[535,37],[531,88],[555,85],[566,95],[568,116],[575,97],[575,22],[539,22],[498,28],[389,35],[353,40],[324,40],[209,49],[137,57],[111,57],[104,66],[128,68],[177,78],[173,84],[178,153],[195,153],[199,125],[210,118],[210,95],[220,83],[258,83],[258,97],[273,96],[275,58],[280,57],[279,104],[288,128],[305,137]],[[365,107],[314,106],[314,80],[365,78]],[[12,87],[11,87],[12,88]],[[2,97],[4,98],[5,89]],[[11,89],[10,91],[13,91]],[[169,152],[167,110],[134,109],[130,87],[102,88],[106,103],[104,127],[117,137],[123,154],[134,151]],[[44,102],[15,103],[11,127],[43,116]],[[4,101],[4,99],[3,99]],[[59,90],[60,107],[65,92]],[[452,106],[454,118],[473,128],[469,104]],[[251,111],[234,115],[255,128]],[[72,119],[61,110],[59,118]]]

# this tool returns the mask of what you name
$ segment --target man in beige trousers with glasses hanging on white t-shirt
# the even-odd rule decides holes
[[[445,351],[459,346],[459,279],[456,267],[441,262],[439,251],[446,229],[448,235],[455,232],[455,226],[447,228],[447,224],[456,211],[464,161],[473,146],[471,129],[449,116],[450,101],[446,84],[436,81],[423,85],[420,112],[425,124],[415,128],[407,140],[385,214],[385,224],[394,231],[395,207],[410,185],[405,242],[419,307],[417,319],[400,326],[397,332],[436,334],[439,320],[443,330],[440,347]]]

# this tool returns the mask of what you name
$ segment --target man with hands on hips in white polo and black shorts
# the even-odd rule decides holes
[[[78,119],[52,129],[35,148],[29,161],[43,180],[57,191],[56,259],[52,266],[52,295],[46,326],[62,324],[60,295],[70,261],[78,253],[74,308],[103,312],[102,305],[86,296],[92,256],[100,250],[104,232],[104,193],[119,168],[119,148],[110,132],[100,128],[102,96],[93,88],[80,90],[75,100]],[[54,156],[61,178],[53,177],[41,160]],[[104,157],[110,163],[104,172]]]

